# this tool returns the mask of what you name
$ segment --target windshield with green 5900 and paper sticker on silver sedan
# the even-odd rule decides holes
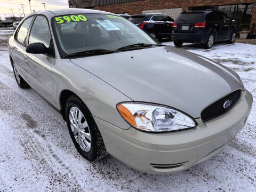
[[[63,58],[91,50],[106,53],[106,50],[121,50],[134,44],[133,49],[138,49],[141,44],[159,44],[145,31],[116,15],[62,15],[52,18],[52,25]]]

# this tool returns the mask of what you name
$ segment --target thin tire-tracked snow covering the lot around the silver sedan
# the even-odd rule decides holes
[[[221,153],[182,172],[151,175],[110,156],[100,162],[82,158],[57,111],[34,90],[19,89],[6,41],[0,35],[0,191],[256,191],[256,45],[182,47],[237,71],[253,90],[253,108]]]

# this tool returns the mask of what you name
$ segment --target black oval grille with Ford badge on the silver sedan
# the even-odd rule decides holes
[[[241,96],[241,90],[237,90],[233,93],[230,93],[226,97],[223,97],[222,99],[214,102],[209,107],[205,108],[201,113],[201,118],[203,122],[209,121],[213,118],[219,117],[220,115],[227,113],[227,111],[229,111],[232,107],[235,106],[240,96]],[[223,105],[227,100],[231,100],[232,103],[230,107],[225,109]]]

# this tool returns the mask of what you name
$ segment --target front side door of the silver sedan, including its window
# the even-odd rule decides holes
[[[49,24],[43,15],[37,15],[31,27],[28,44],[31,43],[43,43],[48,49],[53,49]],[[52,54],[27,53],[26,70],[33,80],[31,86],[51,103],[53,102],[51,69],[54,61],[54,51]]]

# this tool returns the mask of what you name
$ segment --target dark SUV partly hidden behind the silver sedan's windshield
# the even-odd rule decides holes
[[[131,16],[129,21],[156,39],[171,38],[172,36],[172,22],[174,20],[168,15],[160,13],[135,14]]]

